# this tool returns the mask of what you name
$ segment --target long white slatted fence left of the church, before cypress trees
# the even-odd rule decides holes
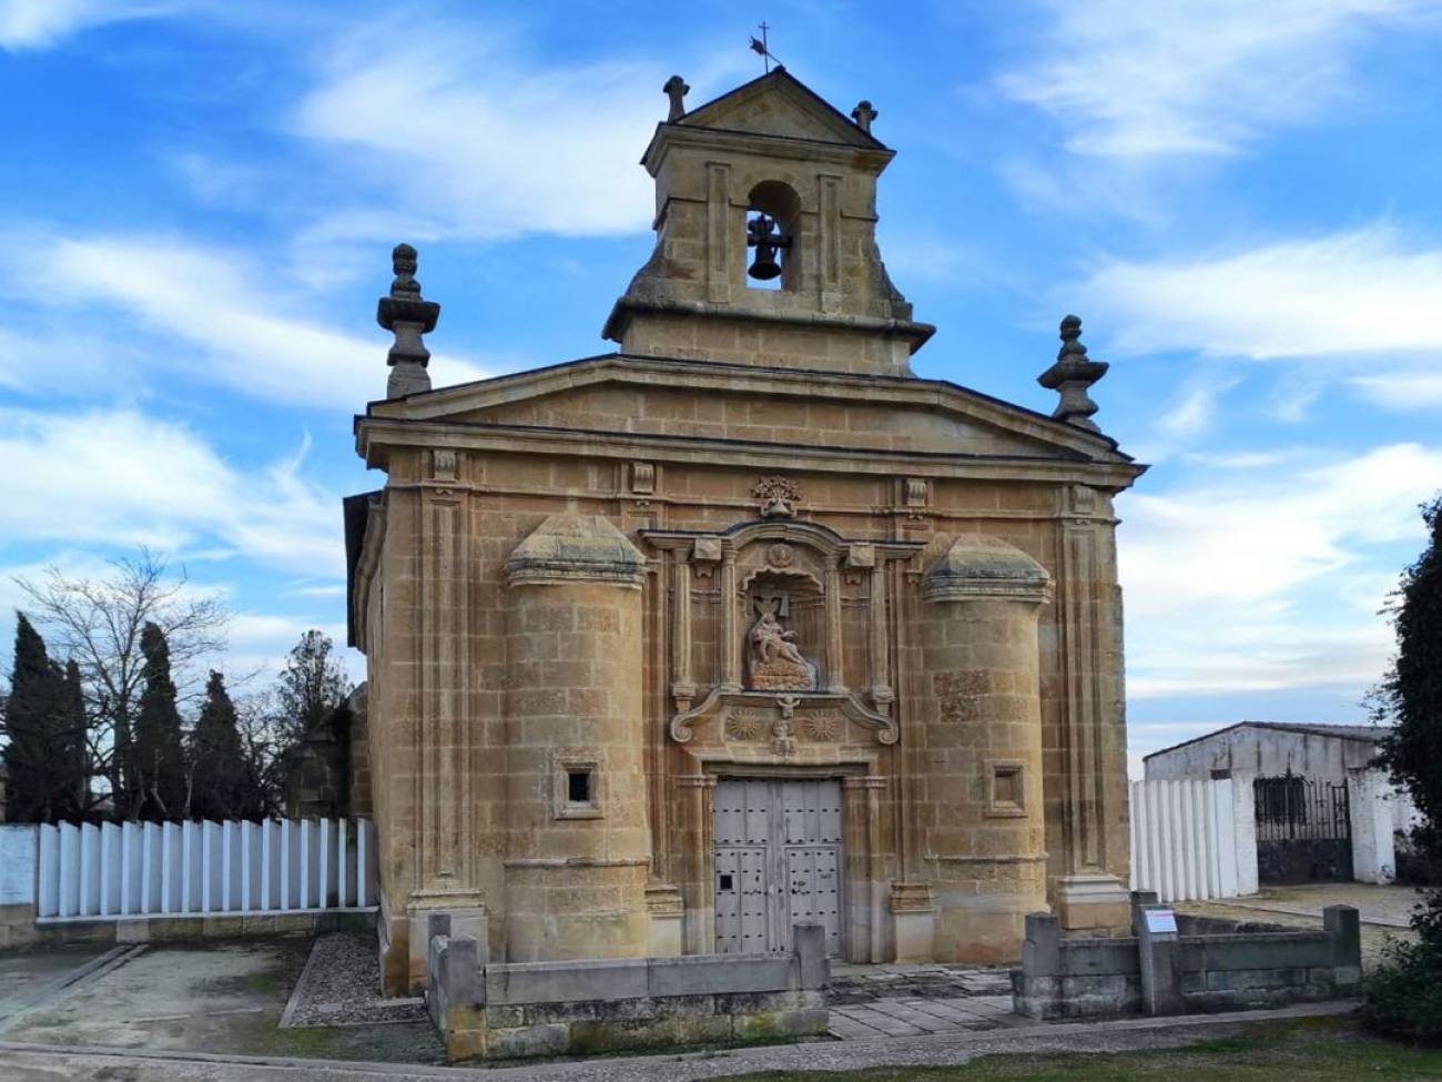
[[[206,916],[375,905],[365,819],[39,827],[36,919]]]

